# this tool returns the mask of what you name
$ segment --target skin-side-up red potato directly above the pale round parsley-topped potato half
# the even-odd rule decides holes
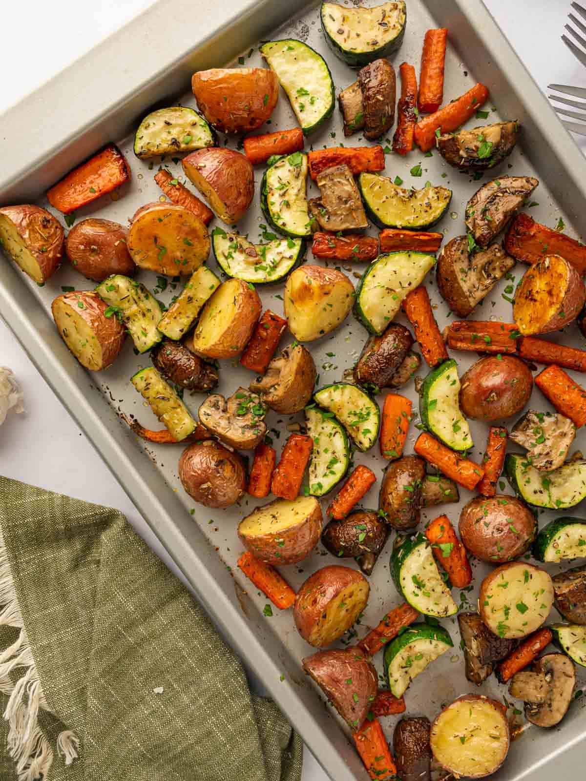
[[[476,497],[460,513],[459,533],[467,551],[483,562],[504,564],[527,553],[538,522],[520,499]]]

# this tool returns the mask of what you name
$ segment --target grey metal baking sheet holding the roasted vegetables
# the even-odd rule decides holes
[[[364,4],[374,5],[375,2],[367,0]],[[346,5],[350,3],[346,2]],[[538,177],[541,184],[533,196],[538,205],[531,208],[532,216],[550,226],[555,226],[561,217],[570,235],[579,237],[586,234],[583,209],[586,162],[481,0],[409,0],[407,5],[406,37],[400,50],[391,58],[395,68],[403,60],[418,66],[425,30],[448,27],[446,98],[461,95],[475,81],[482,81],[491,90],[490,102],[484,106],[491,111],[490,120],[519,119],[523,125],[519,148],[495,169],[495,174],[510,172]],[[355,72],[327,48],[320,30],[319,4],[315,2],[224,0],[220,4],[215,0],[199,0],[198,3],[192,0],[159,0],[127,27],[0,117],[3,142],[0,152],[0,203],[34,199],[46,205],[43,192],[48,185],[105,142],[117,141],[130,162],[132,181],[113,198],[102,198],[88,209],[77,212],[76,217],[79,220],[91,214],[127,223],[138,206],[155,201],[160,196],[152,180],[159,161],[155,161],[151,169],[148,162],[134,157],[130,131],[155,105],[169,105],[177,99],[185,105],[195,105],[189,91],[191,73],[195,70],[230,63],[238,66],[238,55],[245,56],[246,66],[263,66],[258,44],[259,40],[270,37],[296,37],[316,48],[327,59],[338,90],[355,79]],[[96,74],[99,74],[98,77]],[[64,97],[82,94],[83,101]],[[286,127],[295,127],[295,118],[281,91],[279,105],[267,130]],[[23,145],[23,138],[26,138],[26,145]],[[322,130],[309,137],[306,148],[310,144],[313,148],[321,148],[339,142],[358,145],[361,137],[355,135],[349,140],[344,139],[341,119],[336,111]],[[227,145],[232,148],[237,143],[237,139],[227,139]],[[387,142],[382,143],[385,145]],[[419,162],[423,176],[414,178],[409,170]],[[170,159],[163,164],[170,166],[170,170],[179,176],[182,173],[180,164]],[[434,230],[443,231],[446,240],[463,234],[465,203],[481,182],[474,182],[446,166],[437,152],[431,158],[420,152],[413,152],[407,159],[388,155],[385,173],[391,177],[398,175],[408,187],[421,187],[426,180],[451,187],[454,192],[451,209],[438,229]],[[259,167],[255,170],[257,193],[254,205],[238,226],[253,241],[259,237],[262,230],[259,226],[263,223],[258,199],[261,175]],[[310,185],[309,189],[313,194],[314,186]],[[57,216],[63,222],[63,216]],[[370,233],[376,234],[375,229],[371,229]],[[308,260],[321,263],[312,259],[310,251]],[[218,270],[211,258],[209,266]],[[353,278],[355,272],[361,272],[364,267],[363,264],[353,266],[347,272],[348,276]],[[502,281],[493,294],[477,307],[473,317],[509,321],[511,308],[503,300],[502,292],[506,284],[514,284],[520,279],[523,270],[521,265],[513,269],[514,280]],[[141,273],[139,278],[150,288],[157,284],[153,274]],[[106,373],[90,375],[82,369],[67,351],[49,315],[52,299],[60,294],[62,285],[91,288],[91,283],[74,273],[67,263],[44,287],[38,287],[12,264],[2,262],[0,313],[42,376],[127,490],[173,561],[184,572],[199,600],[222,626],[235,649],[263,679],[270,694],[302,734],[323,768],[336,781],[366,779],[366,772],[348,742],[344,727],[331,709],[324,708],[322,697],[302,673],[300,660],[313,649],[298,636],[290,613],[270,618],[262,614],[266,598],[249,588],[250,584],[235,569],[241,551],[236,526],[238,520],[252,509],[252,501],[247,498],[240,507],[222,512],[195,505],[177,479],[181,448],[145,447],[129,433],[118,417],[121,411],[134,413],[147,425],[155,423],[152,413],[129,382],[131,374],[139,366],[148,365],[148,357],[135,356],[129,340],[123,355]],[[271,286],[266,290],[259,287],[263,305],[282,312],[282,303],[277,298],[282,293],[282,287]],[[448,322],[448,308],[435,291],[433,275],[429,276],[427,287],[436,305],[438,323],[443,327]],[[159,298],[169,301],[178,290],[177,284],[170,282],[166,291],[159,293]],[[310,345],[320,373],[320,383],[341,378],[342,372],[356,361],[366,336],[363,327],[349,316],[334,333]],[[573,325],[552,338],[584,346]],[[459,353],[455,357],[460,372],[463,372],[476,355]],[[248,384],[250,374],[237,362],[222,364],[220,392],[231,392],[238,383]],[[425,375],[424,366],[420,375]],[[579,376],[576,379],[581,380]],[[406,388],[406,394],[416,401],[413,383]],[[195,412],[201,399],[198,396],[188,398],[186,394],[185,400]],[[548,408],[538,391],[534,392],[531,405]],[[279,423],[281,418],[270,413],[268,426],[281,431],[280,439],[275,437],[277,449],[287,436],[285,423],[301,419],[297,415],[291,421]],[[481,458],[488,429],[477,423],[472,423],[471,428],[475,441],[473,457]],[[410,432],[407,452],[413,448],[416,433],[414,429]],[[579,433],[576,447],[584,449],[584,445],[584,434]],[[370,465],[380,475],[384,463],[375,451],[376,448],[373,448],[366,454],[357,453],[355,462]],[[377,490],[378,487],[373,488],[365,498],[365,506],[377,506]],[[506,493],[510,493],[508,487]],[[466,490],[462,490],[461,494],[462,504],[470,499]],[[323,501],[324,510],[326,506],[327,500]],[[457,521],[459,506],[448,505],[446,510],[450,518]],[[580,515],[581,508],[572,512]],[[427,513],[427,519],[431,517]],[[541,523],[551,517],[552,513],[544,512]],[[426,514],[423,514],[423,521],[425,519]],[[401,601],[389,576],[390,551],[391,539],[370,578],[370,601],[359,626],[356,626],[359,636]],[[301,565],[289,567],[285,574],[291,585],[298,587],[310,572],[337,561],[319,546],[310,558]],[[346,559],[342,563],[353,566],[352,560]],[[555,572],[559,568],[548,566],[548,569]],[[484,565],[474,566],[476,584],[481,582],[485,570],[488,571],[488,567]],[[472,608],[476,592],[456,590],[455,597],[462,602],[463,608]],[[552,620],[555,619],[556,615],[552,615]],[[459,694],[475,690],[464,677],[456,619],[447,619],[444,623],[452,633],[455,649],[451,655],[446,654],[434,662],[409,688],[406,699],[411,714],[433,718],[442,704],[452,701]],[[345,640],[348,642],[352,637]],[[382,672],[380,654],[375,661],[379,672]],[[584,676],[581,682],[583,685]],[[494,677],[478,691],[496,697],[506,694]],[[559,729],[526,729],[521,739],[513,744],[506,765],[495,777],[519,781],[559,752],[576,747],[586,737],[584,701],[586,697],[573,704]],[[395,719],[384,719],[384,722],[390,738]]]

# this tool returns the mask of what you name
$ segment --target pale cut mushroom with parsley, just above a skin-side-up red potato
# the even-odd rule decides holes
[[[256,394],[243,387],[227,400],[220,394],[208,396],[198,415],[209,433],[236,450],[254,450],[266,434],[266,408]]]

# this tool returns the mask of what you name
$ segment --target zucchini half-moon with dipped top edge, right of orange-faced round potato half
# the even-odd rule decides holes
[[[303,257],[305,241],[287,237],[268,244],[252,244],[240,234],[216,227],[212,231],[212,246],[218,266],[228,276],[264,284],[283,280],[295,268]]]

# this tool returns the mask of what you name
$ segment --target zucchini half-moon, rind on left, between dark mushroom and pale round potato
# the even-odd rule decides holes
[[[399,594],[422,615],[443,619],[458,612],[425,535],[397,537],[391,553],[391,576]]]

